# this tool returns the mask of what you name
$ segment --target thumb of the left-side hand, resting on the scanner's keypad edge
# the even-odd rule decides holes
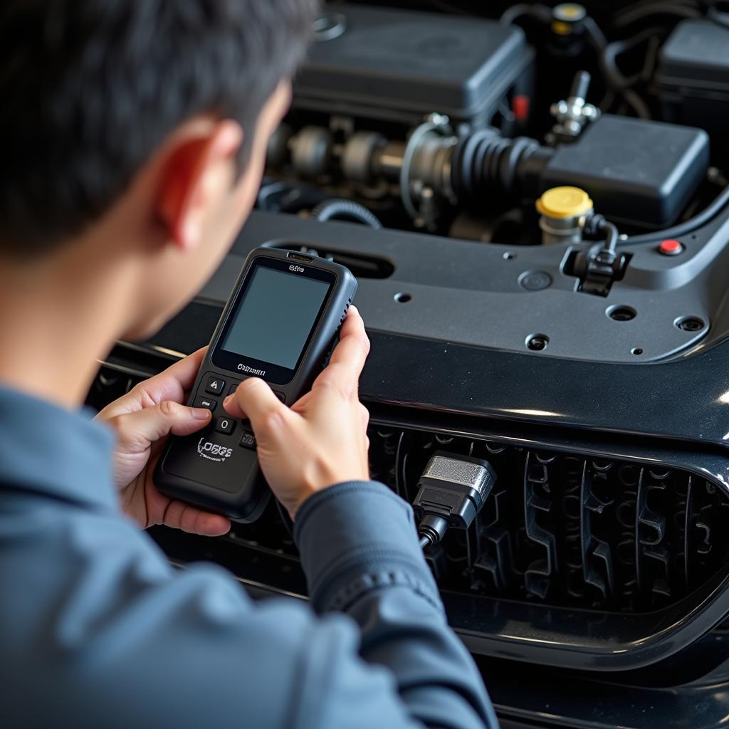
[[[206,426],[210,418],[207,408],[188,408],[174,400],[165,400],[153,408],[112,418],[112,424],[122,451],[139,453],[170,433],[190,435]]]

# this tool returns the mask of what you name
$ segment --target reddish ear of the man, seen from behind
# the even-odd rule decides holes
[[[176,141],[167,154],[158,185],[156,213],[179,249],[200,245],[208,213],[233,183],[235,154],[243,130],[238,122],[211,122],[210,128]]]

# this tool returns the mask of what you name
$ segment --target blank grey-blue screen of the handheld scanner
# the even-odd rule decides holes
[[[330,284],[257,266],[222,348],[294,370]]]

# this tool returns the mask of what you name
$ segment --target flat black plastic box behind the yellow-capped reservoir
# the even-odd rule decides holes
[[[620,223],[671,225],[709,166],[709,136],[693,127],[603,114],[547,161],[541,190],[574,185]]]

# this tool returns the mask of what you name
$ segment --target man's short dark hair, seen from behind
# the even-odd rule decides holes
[[[0,252],[45,252],[112,206],[178,125],[257,119],[317,0],[2,0]]]

